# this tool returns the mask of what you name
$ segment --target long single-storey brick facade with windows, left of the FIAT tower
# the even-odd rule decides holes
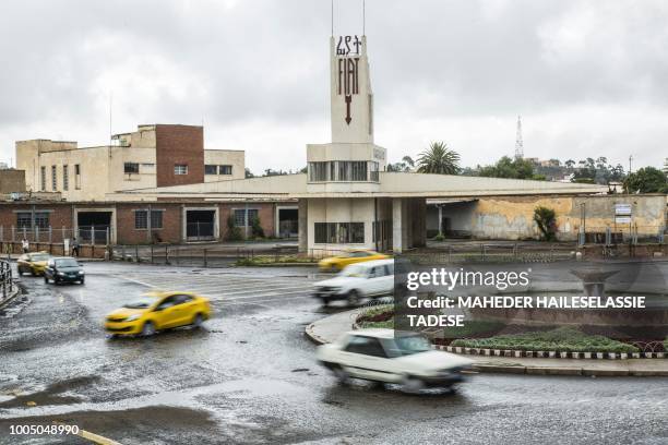
[[[242,237],[252,236],[258,218],[267,238],[276,237],[278,207],[291,202],[5,202],[0,203],[0,241],[61,243],[76,233],[81,241],[104,244],[181,243],[189,237],[190,213],[211,215],[216,230],[199,233],[196,240],[223,241],[229,236],[228,219],[235,221]],[[202,225],[208,222],[202,222]],[[91,234],[93,233],[93,234]],[[108,234],[107,234],[108,233]]]

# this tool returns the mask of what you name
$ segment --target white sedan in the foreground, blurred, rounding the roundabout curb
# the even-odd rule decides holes
[[[463,381],[462,371],[473,360],[436,350],[417,333],[394,329],[359,329],[318,348],[318,361],[345,383],[350,377],[402,384],[406,390],[452,387]]]

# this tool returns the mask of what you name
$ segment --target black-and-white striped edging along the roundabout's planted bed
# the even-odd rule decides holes
[[[585,360],[627,360],[627,359],[667,359],[667,352],[560,352],[522,351],[515,349],[465,348],[461,346],[434,346],[436,349],[452,353],[484,357],[509,357],[527,359],[585,359]]]

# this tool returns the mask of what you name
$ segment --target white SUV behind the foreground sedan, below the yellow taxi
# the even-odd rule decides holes
[[[313,285],[313,297],[324,305],[332,300],[347,300],[356,305],[362,298],[391,294],[394,289],[394,260],[374,260],[344,267],[334,278]]]

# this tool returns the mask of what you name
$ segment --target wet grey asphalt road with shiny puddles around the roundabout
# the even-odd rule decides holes
[[[455,394],[337,385],[303,327],[326,313],[310,269],[86,264],[85,286],[45,286],[0,314],[0,444],[60,421],[122,444],[666,444],[668,380],[475,375]],[[107,340],[104,315],[151,286],[198,290],[203,329]],[[336,309],[334,309],[335,311]]]

